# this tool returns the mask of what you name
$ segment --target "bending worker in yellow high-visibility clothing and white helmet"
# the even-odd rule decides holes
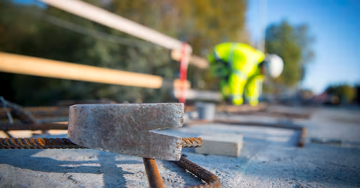
[[[265,76],[276,78],[283,69],[283,60],[274,54],[264,54],[246,44],[222,43],[209,54],[210,72],[219,77],[221,93],[233,105],[245,99],[251,106],[259,103]]]

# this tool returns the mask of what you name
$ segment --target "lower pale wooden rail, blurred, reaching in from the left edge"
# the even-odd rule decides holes
[[[162,77],[150,74],[99,68],[4,52],[0,52],[0,71],[154,89],[163,86],[179,87],[181,85],[178,80],[170,81],[171,84],[168,84],[167,80]],[[188,81],[185,84],[186,88],[190,88]]]

